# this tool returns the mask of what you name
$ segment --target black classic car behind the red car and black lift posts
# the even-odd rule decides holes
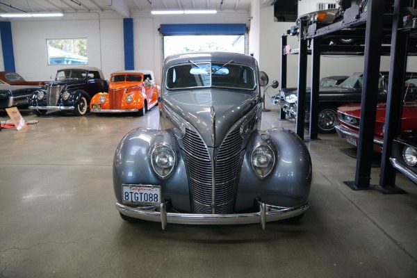
[[[378,101],[386,101],[386,92],[388,88],[388,72],[379,74],[378,83]],[[406,79],[417,76],[416,72],[407,72]],[[334,133],[336,129],[334,124],[337,122],[336,109],[343,104],[353,104],[361,102],[363,73],[356,72],[340,85],[334,88],[320,88],[319,106],[318,106],[318,131],[320,133]],[[406,88],[415,95],[415,89]],[[295,119],[297,116],[297,90],[281,91],[279,101],[284,108],[287,117]],[[310,119],[310,96],[311,91],[306,91],[306,121]]]

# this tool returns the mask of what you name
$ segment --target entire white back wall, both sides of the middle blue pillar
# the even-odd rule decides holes
[[[154,71],[157,83],[161,82],[163,61],[162,37],[158,32],[161,24],[249,22],[249,13],[234,11],[202,17],[153,16],[149,11],[133,10],[132,17],[135,68]],[[11,26],[16,72],[28,81],[54,79],[56,70],[63,67],[47,65],[47,39],[87,38],[88,65],[100,68],[106,79],[111,72],[124,69],[123,17],[115,12],[65,14],[62,19],[48,20],[13,19]]]

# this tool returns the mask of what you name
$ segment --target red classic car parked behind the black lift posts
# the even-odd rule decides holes
[[[386,103],[377,104],[373,150],[379,154],[382,154],[384,142],[385,114]],[[360,116],[361,104],[346,104],[338,108],[338,123],[335,126],[338,136],[355,146],[359,138]],[[417,130],[417,101],[409,101],[402,106],[401,133],[412,130]]]

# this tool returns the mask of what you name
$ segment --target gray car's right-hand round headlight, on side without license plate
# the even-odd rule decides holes
[[[275,165],[275,153],[268,145],[259,145],[252,149],[250,164],[256,176],[265,178]]]

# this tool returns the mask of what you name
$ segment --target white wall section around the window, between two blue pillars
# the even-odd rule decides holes
[[[87,38],[88,65],[108,78],[124,69],[123,22],[117,13],[66,14],[62,19],[13,20],[16,72],[29,81],[55,78],[63,65],[48,65],[47,39]]]

